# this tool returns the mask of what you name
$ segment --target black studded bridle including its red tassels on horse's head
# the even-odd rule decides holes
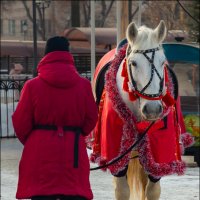
[[[169,85],[170,85],[169,82],[170,81],[169,81],[169,77],[168,77],[168,71],[170,71],[170,68],[168,66],[168,62],[165,61],[165,63],[164,63],[164,69],[163,69],[164,70],[164,73],[163,73],[164,76],[163,76],[163,78],[161,77],[161,75],[159,74],[158,70],[156,69],[156,67],[154,65],[155,52],[160,50],[160,49],[162,49],[162,47],[159,46],[159,47],[153,48],[153,49],[134,50],[133,51],[133,53],[143,54],[144,57],[149,61],[150,65],[151,65],[151,77],[149,79],[149,82],[141,90],[138,89],[137,83],[133,78],[131,65],[129,64],[127,66],[126,58],[124,59],[121,76],[124,77],[123,90],[125,92],[128,92],[130,101],[135,101],[137,99],[144,98],[144,99],[147,99],[147,100],[160,100],[160,101],[164,102],[166,107],[169,107],[169,106],[172,106],[172,105],[175,104],[176,100],[172,96],[170,88],[169,88]],[[127,51],[127,52],[129,52],[129,51]],[[147,53],[151,53],[151,52],[152,52],[152,56],[150,58],[147,55]],[[128,57],[128,55],[126,57]],[[157,94],[147,94],[147,93],[145,93],[145,90],[151,84],[154,75],[157,75],[158,78],[160,79],[159,91],[158,91]],[[165,90],[163,90],[163,88],[165,88]]]

